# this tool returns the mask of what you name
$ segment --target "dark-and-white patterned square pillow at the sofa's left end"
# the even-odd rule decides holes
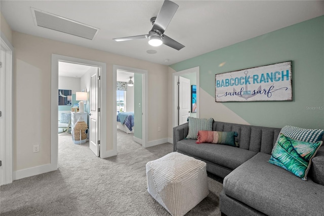
[[[187,139],[197,139],[199,130],[212,130],[213,129],[213,118],[209,119],[198,119],[194,117],[188,117],[189,130]]]

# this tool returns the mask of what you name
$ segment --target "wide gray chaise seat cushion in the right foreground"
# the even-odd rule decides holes
[[[291,172],[256,156],[229,173],[223,182],[227,196],[267,215],[322,215],[324,187],[301,181]]]

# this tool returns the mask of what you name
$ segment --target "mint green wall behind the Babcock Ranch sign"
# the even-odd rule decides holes
[[[215,98],[216,74],[289,60],[293,61],[293,101],[222,104],[251,125],[324,128],[324,16],[272,31],[170,67],[180,71],[199,66],[200,88]],[[204,106],[204,101],[200,101],[200,106]]]

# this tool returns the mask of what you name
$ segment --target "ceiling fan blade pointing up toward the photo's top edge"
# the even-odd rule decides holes
[[[163,33],[168,27],[178,7],[179,6],[176,3],[165,0],[160,11],[157,14],[152,30],[157,29],[161,33]]]

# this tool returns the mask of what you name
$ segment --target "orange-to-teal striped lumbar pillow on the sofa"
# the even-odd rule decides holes
[[[224,144],[228,146],[235,146],[235,137],[237,132],[235,131],[198,131],[198,139],[196,143],[200,144],[203,142],[215,143],[215,144]]]

